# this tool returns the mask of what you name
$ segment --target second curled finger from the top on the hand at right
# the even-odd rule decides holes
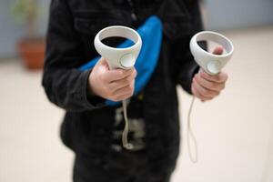
[[[224,83],[216,83],[216,82],[209,81],[209,80],[201,77],[199,74],[194,76],[194,78],[196,79],[197,83],[200,86],[203,86],[203,87],[205,87],[205,88],[207,88],[209,90],[221,91],[222,89],[225,88]]]

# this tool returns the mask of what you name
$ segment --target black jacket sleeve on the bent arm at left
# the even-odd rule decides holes
[[[88,91],[91,70],[77,69],[86,62],[78,36],[66,1],[52,0],[42,84],[49,100],[69,111],[93,109],[97,103]]]

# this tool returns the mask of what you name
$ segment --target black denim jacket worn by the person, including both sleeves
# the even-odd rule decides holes
[[[146,123],[148,156],[176,158],[176,87],[179,84],[190,93],[197,72],[188,47],[190,37],[202,29],[197,0],[52,0],[43,86],[49,100],[66,109],[61,136],[76,154],[96,156],[111,151],[116,112],[116,107],[100,106],[103,99],[90,95],[91,70],[77,68],[98,56],[93,40],[100,29],[108,25],[136,28],[150,15],[160,17],[164,26],[159,61],[143,99],[132,98],[128,113]]]

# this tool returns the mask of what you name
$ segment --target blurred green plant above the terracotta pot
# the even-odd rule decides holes
[[[36,36],[37,21],[41,11],[38,0],[15,0],[12,5],[12,14],[15,19],[25,25],[26,37]]]

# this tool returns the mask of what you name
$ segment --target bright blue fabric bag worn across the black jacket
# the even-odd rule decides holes
[[[142,38],[142,48],[139,56],[136,59],[136,82],[134,96],[136,96],[146,85],[152,76],[155,67],[157,66],[158,56],[162,42],[162,24],[160,19],[156,16],[150,16],[144,25],[137,28],[137,33]],[[132,45],[132,41],[126,40],[118,48],[128,47]],[[100,57],[96,57],[88,62],[86,65],[81,66],[80,70],[86,70],[96,65]],[[119,102],[106,100],[106,105],[116,106]]]

